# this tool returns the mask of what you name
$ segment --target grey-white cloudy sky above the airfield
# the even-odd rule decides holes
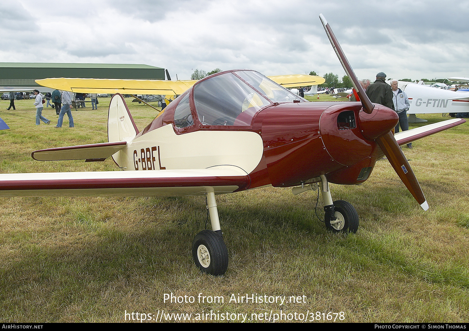
[[[136,63],[345,75],[318,15],[359,79],[468,77],[469,1],[1,0],[0,62]]]

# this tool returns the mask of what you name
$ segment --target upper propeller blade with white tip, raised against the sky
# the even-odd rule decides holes
[[[340,47],[339,42],[335,38],[334,32],[329,26],[329,23],[327,23],[327,21],[325,20],[325,17],[322,14],[319,14],[319,18],[321,19],[321,22],[324,25],[324,29],[325,29],[325,32],[327,33],[327,37],[329,37],[329,41],[331,42],[331,45],[333,46],[334,51],[340,60],[340,63],[342,63],[342,67],[347,73],[348,78],[350,78],[350,80],[352,81],[355,91],[358,93],[358,96],[360,97],[360,101],[362,101],[363,111],[367,114],[371,114],[375,106],[371,103],[370,98],[368,98],[368,95],[366,95],[365,90],[363,90],[363,87],[358,81],[358,78],[355,76],[355,73],[353,72],[352,67],[350,67],[347,57],[342,51],[342,48]]]

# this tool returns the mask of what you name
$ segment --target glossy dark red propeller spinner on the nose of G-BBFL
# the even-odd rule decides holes
[[[399,122],[399,116],[390,108],[375,104],[371,114],[359,112],[359,126],[363,137],[375,140],[391,131]]]

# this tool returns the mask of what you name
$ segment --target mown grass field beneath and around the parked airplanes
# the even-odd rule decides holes
[[[130,100],[141,130],[155,111]],[[74,129],[67,118],[54,129],[50,108],[43,115],[51,124],[36,126],[33,100],[16,101],[15,111],[5,110],[8,103],[0,101],[11,128],[0,131],[0,172],[117,170],[112,160],[30,157],[41,148],[107,141],[108,98],[98,110],[73,111]],[[333,199],[349,201],[360,216],[348,237],[318,221],[316,192],[270,187],[218,196],[230,260],[223,277],[201,274],[190,254],[204,229],[203,197],[0,198],[0,322],[124,322],[161,311],[204,321],[266,314],[321,322],[331,312],[337,322],[468,322],[468,125],[404,148],[426,212],[386,160],[363,185],[331,185]],[[165,301],[170,293],[183,302]],[[246,294],[295,302],[230,300]]]

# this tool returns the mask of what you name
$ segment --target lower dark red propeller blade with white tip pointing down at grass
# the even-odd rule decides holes
[[[406,185],[408,191],[417,200],[420,207],[424,210],[428,209],[428,203],[425,199],[424,192],[420,184],[418,184],[417,178],[415,177],[414,171],[410,168],[410,164],[407,161],[404,153],[402,153],[401,147],[397,144],[396,139],[392,132],[386,133],[384,136],[376,139],[379,147],[386,155],[389,163],[393,166],[402,183]]]

